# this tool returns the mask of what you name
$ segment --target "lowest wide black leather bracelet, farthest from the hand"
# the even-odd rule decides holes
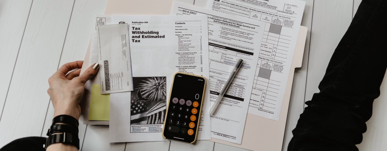
[[[46,138],[46,144],[43,146],[47,149],[48,146],[55,143],[63,143],[74,145],[79,150],[79,138],[78,135],[73,135],[67,132],[63,132],[60,134],[53,134]]]

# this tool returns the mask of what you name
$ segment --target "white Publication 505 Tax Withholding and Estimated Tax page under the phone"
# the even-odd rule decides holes
[[[162,137],[173,75],[209,78],[207,15],[113,15],[129,24],[134,91],[110,94],[110,141],[168,141]],[[207,88],[209,84],[207,85]],[[187,86],[189,88],[189,86]],[[203,113],[210,109],[204,96]],[[199,140],[211,139],[209,114],[201,115]]]

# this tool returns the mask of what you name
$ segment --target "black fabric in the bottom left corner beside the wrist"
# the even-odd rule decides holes
[[[45,137],[24,137],[8,143],[0,151],[45,151]]]

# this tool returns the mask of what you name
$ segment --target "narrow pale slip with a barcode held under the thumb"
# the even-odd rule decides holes
[[[133,91],[128,24],[96,28],[101,94]]]

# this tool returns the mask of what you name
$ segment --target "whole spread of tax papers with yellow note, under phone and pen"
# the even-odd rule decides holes
[[[304,7],[305,2],[298,0],[209,0],[209,9],[174,2],[166,16],[97,16],[89,63],[105,66],[108,60],[110,69],[131,68],[133,81],[120,79],[129,73],[117,69],[107,76],[101,68],[87,84],[91,100],[86,104],[86,123],[110,120],[111,142],[165,141],[161,131],[166,94],[173,74],[181,71],[209,81],[198,139],[241,144],[247,113],[279,119]],[[106,40],[110,45],[103,43]],[[112,48],[121,51],[101,53]],[[238,58],[243,65],[210,116]],[[106,83],[115,89],[108,90]],[[149,84],[159,85],[163,92],[155,92]],[[133,91],[128,92],[130,85]],[[150,122],[150,116],[158,118]]]

